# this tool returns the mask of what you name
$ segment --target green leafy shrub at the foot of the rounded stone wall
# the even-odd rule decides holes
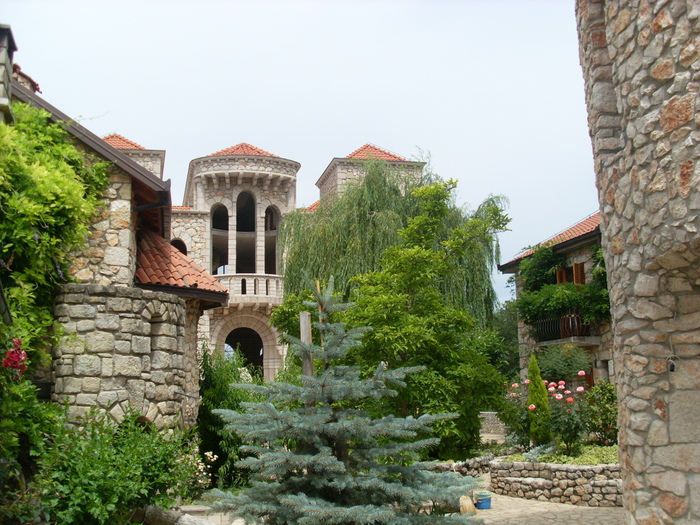
[[[25,500],[40,501],[45,519],[66,525],[122,523],[136,509],[173,504],[196,474],[183,455],[188,435],[140,421],[129,413],[117,424],[95,410],[79,426],[63,425],[41,451]]]

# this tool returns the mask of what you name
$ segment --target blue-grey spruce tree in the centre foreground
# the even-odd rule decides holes
[[[239,465],[252,471],[249,489],[213,492],[216,506],[271,525],[467,523],[466,516],[447,513],[457,510],[473,480],[416,461],[436,442],[417,435],[452,416],[373,419],[357,408],[363,399],[396,395],[406,386],[404,377],[418,370],[381,364],[363,379],[357,367],[338,364],[367,329],[330,321],[347,307],[331,287],[317,295],[320,344],[290,338],[291,351],[320,364],[315,374],[301,376],[301,385],[237,385],[266,401],[244,403],[244,411],[216,411],[251,443]]]

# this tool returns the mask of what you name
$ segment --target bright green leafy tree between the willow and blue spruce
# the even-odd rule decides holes
[[[464,457],[479,444],[480,410],[501,402],[502,378],[480,353],[475,320],[450,304],[441,288],[450,279],[450,268],[459,257],[479,251],[507,218],[500,209],[487,218],[472,217],[437,242],[443,220],[450,214],[449,199],[454,183],[434,183],[416,188],[413,196],[421,213],[401,230],[403,243],[388,248],[381,270],[353,279],[357,285],[348,311],[351,326],[373,326],[361,346],[350,353],[353,363],[369,374],[380,363],[388,366],[423,366],[411,376],[409,388],[381,404],[367,406],[373,414],[403,417],[451,411],[454,420],[436,424],[441,438],[441,458]]]

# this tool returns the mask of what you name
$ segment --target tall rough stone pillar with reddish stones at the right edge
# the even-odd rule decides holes
[[[628,523],[700,521],[700,2],[578,0]]]

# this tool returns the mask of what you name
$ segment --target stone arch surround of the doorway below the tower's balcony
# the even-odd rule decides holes
[[[249,328],[260,336],[263,345],[263,373],[266,380],[274,380],[284,356],[277,343],[278,334],[270,326],[268,317],[259,312],[236,312],[224,317],[211,327],[214,348],[223,351],[226,338],[237,328]]]

